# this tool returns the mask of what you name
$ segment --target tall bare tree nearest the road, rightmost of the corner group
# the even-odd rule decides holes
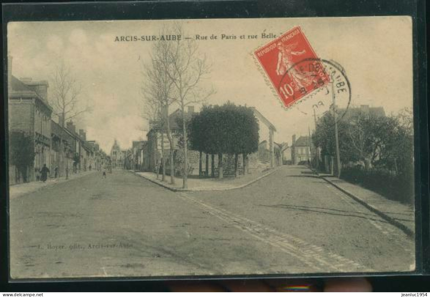
[[[202,82],[210,73],[210,67],[204,55],[198,52],[198,44],[194,39],[184,38],[185,34],[179,24],[173,29],[175,40],[170,57],[171,68],[168,72],[174,83],[177,102],[182,115],[182,132],[184,137],[184,175],[183,185],[187,189],[188,158],[187,158],[187,114],[185,107],[206,101],[215,93],[214,89],[203,89]]]

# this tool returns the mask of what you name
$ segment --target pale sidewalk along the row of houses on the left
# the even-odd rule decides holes
[[[93,173],[93,172],[99,172],[99,171],[96,171],[96,170],[81,171],[78,174],[69,175],[68,179],[66,179],[65,177],[58,178],[57,180],[55,180],[54,178],[49,178],[45,183],[42,181],[31,181],[25,184],[14,184],[9,187],[9,199],[14,199],[16,197],[35,192],[44,187],[50,187],[56,184],[64,183],[66,181],[71,181],[75,178],[80,178],[82,176],[89,175],[90,173]]]

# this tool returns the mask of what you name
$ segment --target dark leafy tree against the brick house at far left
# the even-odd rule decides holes
[[[34,142],[30,135],[23,131],[9,132],[9,162],[15,165],[18,177],[28,182],[27,169],[34,164]]]

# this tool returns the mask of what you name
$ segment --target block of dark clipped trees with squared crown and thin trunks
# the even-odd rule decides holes
[[[246,155],[258,150],[258,121],[250,107],[230,102],[222,106],[203,106],[190,121],[190,147],[202,153],[218,154],[218,178],[223,177],[223,153],[234,154],[234,171],[238,175],[239,155],[243,156],[244,172]],[[206,160],[206,164],[208,164]]]

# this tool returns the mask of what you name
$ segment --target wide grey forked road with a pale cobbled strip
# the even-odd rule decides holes
[[[15,279],[415,267],[414,239],[302,166],[243,189],[176,193],[95,171],[9,205]]]

